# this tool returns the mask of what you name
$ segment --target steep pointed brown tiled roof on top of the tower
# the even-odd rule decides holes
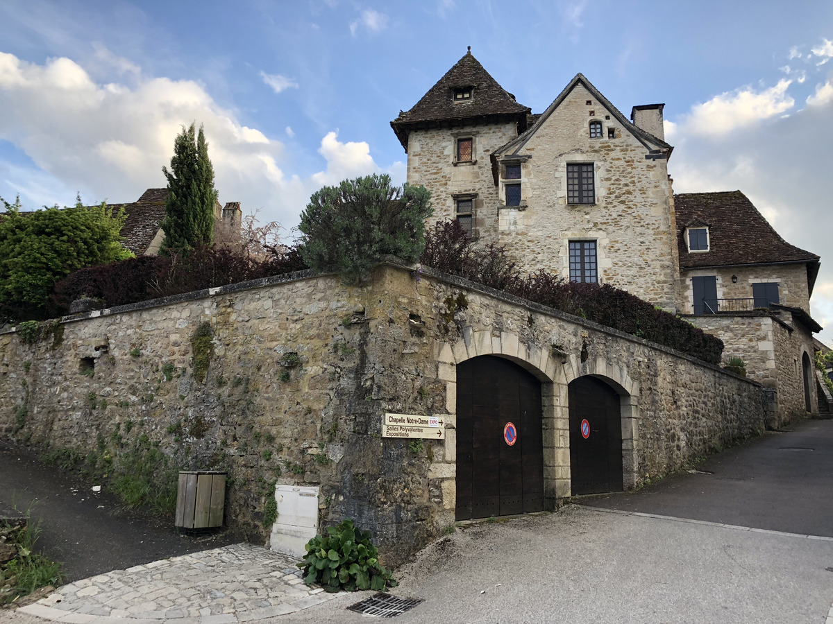
[[[454,90],[472,87],[471,101],[454,102]],[[526,128],[526,115],[531,109],[515,101],[515,96],[501,87],[472,56],[471,50],[451,67],[446,75],[422,96],[409,111],[399,111],[391,121],[393,131],[408,149],[408,131],[414,126],[441,121],[475,121],[493,116],[517,116]]]

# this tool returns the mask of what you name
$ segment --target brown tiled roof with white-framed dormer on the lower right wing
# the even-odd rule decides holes
[[[674,209],[681,269],[806,262],[812,292],[819,256],[782,239],[741,191],[681,193],[674,196]],[[680,224],[695,219],[709,224],[709,250],[692,254],[686,225]]]

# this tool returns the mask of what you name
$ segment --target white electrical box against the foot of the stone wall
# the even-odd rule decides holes
[[[276,485],[277,522],[272,525],[273,551],[294,557],[307,554],[305,546],[318,532],[320,488]]]

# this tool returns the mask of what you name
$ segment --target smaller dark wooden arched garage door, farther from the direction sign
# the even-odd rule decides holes
[[[593,377],[567,387],[570,401],[571,493],[622,490],[622,431],[619,394]]]

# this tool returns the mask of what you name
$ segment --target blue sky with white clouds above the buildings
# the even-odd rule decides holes
[[[833,2],[0,4],[0,196],[135,201],[204,123],[220,201],[287,230],[313,191],[404,181],[389,126],[466,52],[540,112],[576,72],[621,111],[665,102],[677,192],[741,189],[822,255],[833,343]]]

